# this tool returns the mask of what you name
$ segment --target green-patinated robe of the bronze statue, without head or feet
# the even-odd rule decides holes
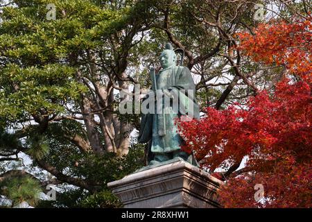
[[[149,143],[148,162],[153,159],[155,153],[180,150],[183,139],[177,133],[176,117],[188,113],[193,118],[199,118],[199,107],[195,98],[196,88],[191,72],[187,67],[173,66],[162,69],[156,75],[156,83],[157,89],[163,91],[167,89],[167,92],[171,92],[170,96],[173,101],[178,99],[181,104],[177,106],[178,110],[174,110],[175,107],[172,104],[165,106],[164,101],[162,101],[162,114],[142,114],[138,142]],[[192,89],[193,95],[188,94],[187,89]],[[168,96],[168,94],[164,94],[164,96]]]

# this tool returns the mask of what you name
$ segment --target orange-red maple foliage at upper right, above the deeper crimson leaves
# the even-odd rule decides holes
[[[272,21],[260,24],[250,33],[238,33],[239,49],[255,61],[284,65],[290,74],[300,76],[311,83],[312,70],[312,17],[291,24]]]

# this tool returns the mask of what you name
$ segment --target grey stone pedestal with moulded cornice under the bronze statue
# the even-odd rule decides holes
[[[220,207],[216,191],[223,182],[188,162],[157,167],[108,183],[125,208]]]

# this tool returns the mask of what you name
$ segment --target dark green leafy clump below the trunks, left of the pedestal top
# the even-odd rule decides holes
[[[144,165],[144,148],[136,145],[128,155],[119,157],[115,153],[80,153],[71,144],[50,141],[49,155],[44,161],[71,176],[85,178],[92,183],[105,187],[107,182],[119,180]]]

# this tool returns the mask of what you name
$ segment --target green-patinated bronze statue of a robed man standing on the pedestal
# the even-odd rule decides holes
[[[147,98],[157,103],[156,112],[142,114],[138,142],[148,142],[149,165],[177,157],[193,163],[193,158],[181,150],[180,146],[184,141],[177,133],[175,125],[175,119],[184,117],[185,114],[191,118],[199,118],[191,72],[187,67],[177,66],[177,56],[171,44],[166,44],[166,49],[159,56],[159,62],[162,67],[159,73],[154,74],[155,70],[150,69],[155,76],[157,99],[154,96]]]

